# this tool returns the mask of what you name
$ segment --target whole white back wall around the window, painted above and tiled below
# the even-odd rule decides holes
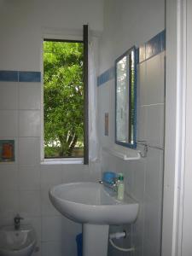
[[[102,31],[101,1],[1,1],[0,70],[41,71],[41,40],[46,27],[55,33]],[[98,179],[83,165],[41,165],[41,84],[0,82],[0,138],[15,139],[15,162],[0,164],[0,225],[17,212],[35,227],[43,256],[76,256],[81,226],[55,211],[48,189],[58,183]],[[94,168],[94,166],[93,166]]]

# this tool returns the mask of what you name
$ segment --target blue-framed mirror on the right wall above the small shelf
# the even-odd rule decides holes
[[[115,61],[115,143],[136,148],[137,61],[132,47]]]

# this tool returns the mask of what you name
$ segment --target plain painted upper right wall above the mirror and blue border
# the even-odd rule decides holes
[[[163,0],[106,0],[100,73],[112,66],[114,59],[132,45],[139,46],[161,32],[165,28],[164,16]]]

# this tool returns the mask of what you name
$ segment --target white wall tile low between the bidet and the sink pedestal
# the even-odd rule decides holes
[[[61,217],[44,217],[42,219],[42,241],[61,241]]]

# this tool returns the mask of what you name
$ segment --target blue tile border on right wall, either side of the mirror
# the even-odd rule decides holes
[[[160,54],[160,52],[166,49],[166,30],[163,30],[154,38],[148,40],[147,43],[137,48],[137,63],[147,61],[154,55]],[[110,67],[104,73],[97,77],[97,86],[107,83],[109,80],[114,79],[114,67]]]

